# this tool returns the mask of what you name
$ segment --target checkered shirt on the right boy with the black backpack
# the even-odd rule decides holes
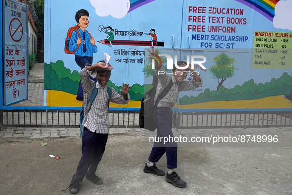
[[[158,71],[165,71],[165,69],[163,66],[161,66],[160,69],[156,70],[156,75],[158,75]],[[159,79],[159,82],[157,84],[155,101],[157,100],[158,95],[162,92],[162,90],[167,87],[170,79],[172,80],[173,85],[170,88],[170,91],[167,93],[167,95],[159,101],[157,107],[172,108],[177,102],[177,97],[179,95],[179,92],[195,89],[197,87],[200,87],[203,83],[203,80],[201,78],[200,78],[201,79],[200,82],[197,82],[194,79],[192,81],[176,82],[173,75],[169,76],[167,74],[159,74],[158,79]]]

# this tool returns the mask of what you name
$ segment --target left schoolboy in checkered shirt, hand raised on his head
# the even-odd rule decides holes
[[[87,115],[87,121],[84,121],[84,135],[82,141],[82,156],[76,169],[76,173],[72,177],[69,186],[71,193],[76,194],[79,191],[79,183],[86,176],[95,184],[102,184],[101,178],[95,175],[97,166],[104,153],[106,142],[109,134],[109,117],[108,117],[108,99],[107,83],[111,76],[113,67],[108,64],[106,67],[104,61],[96,64],[86,64],[85,68],[80,71],[80,80],[84,91],[84,114]],[[89,78],[97,78],[95,83]],[[91,109],[87,111],[87,102],[92,93],[93,88],[98,88],[98,93],[92,102]],[[121,94],[118,94],[111,87],[110,101],[118,104],[127,104],[130,101],[128,94],[129,84],[122,86]]]

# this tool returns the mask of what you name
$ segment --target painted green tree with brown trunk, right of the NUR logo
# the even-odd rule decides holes
[[[234,76],[237,68],[235,68],[235,65],[233,64],[235,62],[235,59],[229,57],[228,55],[226,55],[226,53],[223,52],[217,57],[214,57],[214,62],[215,65],[211,66],[209,68],[209,71],[212,74],[212,78],[218,79],[218,90],[227,78],[231,78]]]

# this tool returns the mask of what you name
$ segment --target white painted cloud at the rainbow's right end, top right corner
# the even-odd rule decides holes
[[[292,0],[280,0],[275,6],[275,28],[292,30]]]

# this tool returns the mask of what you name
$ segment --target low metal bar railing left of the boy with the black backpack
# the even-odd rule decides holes
[[[0,110],[4,127],[79,127],[80,110]],[[139,111],[110,110],[111,128],[139,127]]]

